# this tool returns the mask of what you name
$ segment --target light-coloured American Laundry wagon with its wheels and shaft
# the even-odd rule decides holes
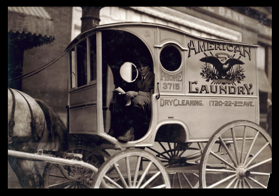
[[[8,155],[49,162],[48,188],[171,188],[174,180],[184,188],[266,188],[272,142],[258,125],[257,47],[152,23],[88,29],[65,50],[70,150]],[[136,96],[119,87],[125,93],[137,85],[139,59],[155,74],[150,111],[135,139],[123,142],[122,114]]]

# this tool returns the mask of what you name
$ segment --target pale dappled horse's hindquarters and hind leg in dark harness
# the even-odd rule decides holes
[[[67,127],[42,100],[8,88],[8,149],[36,153],[38,149],[65,151],[69,147]],[[22,188],[43,188],[35,161],[8,156]]]

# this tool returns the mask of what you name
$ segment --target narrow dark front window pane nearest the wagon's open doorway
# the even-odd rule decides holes
[[[90,81],[96,80],[97,78],[97,53],[96,53],[96,34],[90,37]]]

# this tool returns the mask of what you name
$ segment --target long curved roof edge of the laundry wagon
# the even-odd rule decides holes
[[[218,39],[211,39],[211,38],[204,38],[204,37],[199,37],[187,32],[184,32],[182,30],[179,30],[174,27],[169,27],[163,24],[157,24],[157,23],[149,23],[149,22],[119,22],[119,23],[110,23],[110,24],[102,24],[95,26],[93,28],[89,28],[85,30],[84,32],[80,33],[77,37],[73,39],[73,41],[67,46],[65,51],[73,48],[73,46],[78,43],[80,40],[82,40],[84,37],[88,36],[89,34],[93,33],[94,31],[100,31],[104,29],[109,29],[109,28],[119,28],[119,27],[125,27],[125,26],[148,26],[148,27],[160,27],[160,28],[165,28],[169,29],[171,31],[175,31],[177,33],[182,33],[185,34],[189,37],[194,37],[197,39],[205,40],[205,41],[214,41],[214,42],[221,42],[221,43],[228,43],[228,44],[237,44],[237,45],[245,45],[245,46],[253,46],[253,47],[259,47],[256,44],[251,44],[251,43],[245,43],[245,42],[238,42],[238,41],[225,41],[225,40],[218,40]]]

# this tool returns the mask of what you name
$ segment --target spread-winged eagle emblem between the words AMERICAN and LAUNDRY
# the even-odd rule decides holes
[[[204,53],[206,55],[206,53]],[[230,56],[226,53],[217,53],[215,56],[210,52],[211,56],[200,59],[205,64],[202,65],[202,72],[200,73],[206,81],[212,80],[212,83],[218,84],[234,84],[235,81],[240,83],[245,78],[243,68],[244,65],[240,59],[234,59],[234,55]],[[221,59],[221,60],[219,60]],[[211,84],[212,84],[211,83]]]

